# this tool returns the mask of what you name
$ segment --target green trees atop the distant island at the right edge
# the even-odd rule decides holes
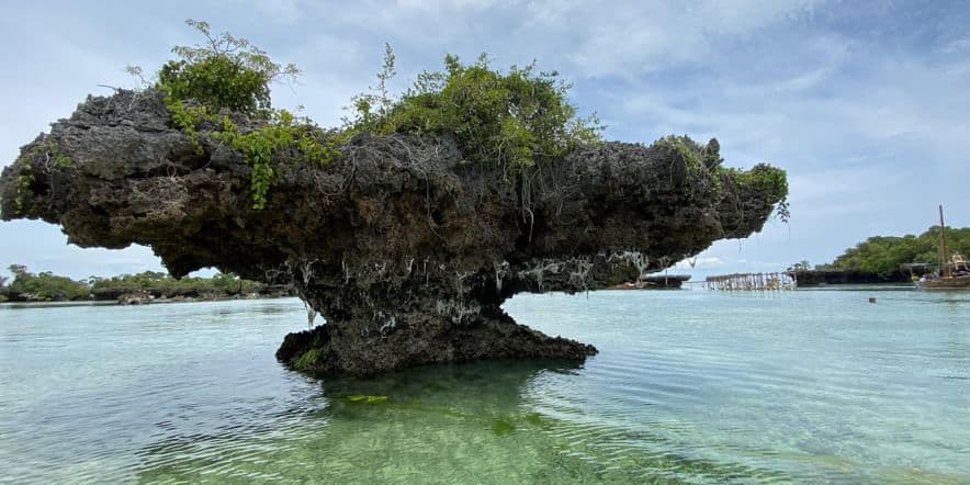
[[[970,257],[970,227],[946,228],[947,252]],[[889,275],[905,271],[904,264],[939,262],[939,226],[932,226],[916,236],[872,236],[848,248],[834,261],[817,264],[815,270],[868,271]],[[803,269],[808,262],[802,261]]]

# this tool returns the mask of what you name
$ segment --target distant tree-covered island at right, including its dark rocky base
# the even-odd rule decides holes
[[[947,227],[951,252],[970,255],[970,227]],[[916,236],[872,236],[845,250],[834,261],[792,264],[800,286],[815,284],[859,284],[909,282],[913,275],[935,271],[939,263],[939,226]]]

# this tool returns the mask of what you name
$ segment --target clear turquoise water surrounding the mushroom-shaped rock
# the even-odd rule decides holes
[[[296,300],[0,306],[0,481],[970,483],[970,292],[506,309],[600,353],[316,381]]]

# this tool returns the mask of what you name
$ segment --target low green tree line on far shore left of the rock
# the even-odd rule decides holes
[[[72,280],[49,271],[32,273],[23,264],[11,264],[8,269],[13,279],[0,277],[0,302],[117,301],[123,297],[207,300],[291,293],[287,285],[270,285],[221,272],[211,278],[181,280],[159,271]]]

